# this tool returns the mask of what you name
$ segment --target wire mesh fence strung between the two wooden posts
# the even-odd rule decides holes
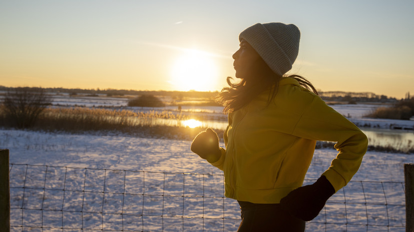
[[[10,164],[12,232],[237,231],[224,177]],[[315,180],[305,180],[304,185]],[[307,232],[404,232],[404,183],[351,181]]]

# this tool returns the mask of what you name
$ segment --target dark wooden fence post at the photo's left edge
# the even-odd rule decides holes
[[[0,228],[10,232],[9,150],[0,150]]]

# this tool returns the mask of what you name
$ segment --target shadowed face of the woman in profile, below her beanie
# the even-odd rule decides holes
[[[240,48],[233,54],[233,66],[236,77],[252,80],[257,73],[258,64],[264,62],[260,55],[244,39],[240,41]]]

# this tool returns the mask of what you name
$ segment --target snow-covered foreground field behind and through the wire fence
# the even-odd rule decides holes
[[[20,226],[28,226],[30,223],[32,223],[31,227],[42,227],[43,225],[43,227],[62,228],[64,225],[69,228],[84,228],[84,231],[87,231],[86,229],[121,231],[120,222],[125,224],[125,231],[237,230],[240,212],[235,201],[221,198],[223,192],[221,171],[193,154],[189,150],[189,141],[137,138],[125,135],[73,135],[21,130],[0,130],[0,138],[2,138],[0,148],[10,150],[11,164],[60,167],[49,167],[46,175],[45,166],[11,165],[11,187],[14,187],[11,189],[13,208],[11,225],[16,226],[12,227],[12,231],[22,231]],[[330,161],[335,155],[336,151],[333,149],[316,150],[306,176],[309,181],[306,183],[317,179],[329,167]],[[351,182],[344,190],[335,194],[329,200],[322,214],[312,223],[307,224],[307,231],[325,231],[325,227],[327,227],[327,231],[388,231],[386,225],[390,226],[389,231],[404,231],[404,192],[402,184],[399,183],[404,181],[404,163],[414,163],[414,156],[367,152],[360,170],[353,178],[353,181],[363,182]],[[88,169],[88,175],[85,174],[86,169],[72,168],[98,170]],[[145,173],[111,170],[145,171]],[[107,173],[104,174],[105,172]],[[216,176],[183,173],[214,174]],[[116,178],[111,182],[111,175],[112,177],[124,175],[124,186],[127,185],[127,180],[135,180],[135,184],[128,182],[132,192],[128,192],[128,188],[126,192],[123,192],[122,182],[120,185],[119,181],[116,181],[119,179]],[[142,186],[143,182],[137,181],[142,178],[137,175],[146,175],[145,186]],[[41,190],[23,189],[25,176],[28,179],[26,188],[35,186],[33,188],[36,189],[38,186]],[[107,178],[106,183],[103,177]],[[163,178],[166,178],[164,180],[167,185],[163,184]],[[187,180],[186,184],[183,184],[184,179]],[[53,187],[53,185],[59,186],[56,183],[62,185],[63,181],[68,182],[65,192],[66,201],[57,194],[62,191],[61,187],[57,189],[54,189],[56,186]],[[48,187],[43,187],[42,183],[50,185],[49,192],[46,191],[49,194],[46,200],[45,191],[42,188],[48,189]],[[80,183],[81,187],[77,188],[77,183]],[[203,195],[203,184],[205,198],[200,198]],[[81,194],[88,188],[102,189],[104,187],[107,188],[104,191],[107,196],[105,201],[101,196],[102,193],[99,195],[92,191],[90,194],[95,194],[93,196]],[[187,188],[187,192],[185,190],[183,192],[183,188]],[[142,189],[141,191],[145,193],[134,195],[133,192],[137,189]],[[23,199],[24,190],[26,191],[25,199]],[[170,192],[161,194],[160,191]],[[121,200],[117,197],[122,194],[130,197],[130,202],[118,204],[121,203]],[[162,205],[160,205],[161,195],[169,196],[163,199]],[[188,196],[183,197],[183,195]],[[143,196],[146,197],[145,200]],[[134,197],[136,197],[135,201],[133,201]],[[73,201],[73,205],[68,202],[68,199]],[[343,204],[345,201],[346,205]],[[387,201],[387,206],[385,206],[385,201]],[[81,208],[80,202],[83,202]],[[139,203],[137,204],[137,202]],[[364,204],[364,202],[368,204]],[[123,211],[120,211],[120,205],[124,206]],[[48,211],[53,206],[58,214],[53,214],[56,211]],[[137,218],[131,221],[127,213],[134,212],[134,207],[141,210],[138,214],[157,216],[134,216],[139,218],[139,222],[137,222]],[[22,210],[20,208],[39,210]],[[44,211],[40,211],[40,209]],[[92,211],[97,213],[83,213],[82,220],[79,216],[82,214],[80,213],[82,209],[84,211],[85,209],[95,209]],[[112,211],[108,209],[112,209]],[[135,210],[137,211],[137,209]],[[62,210],[64,212],[61,212]],[[65,210],[73,210],[75,213],[68,213]],[[40,220],[42,217],[39,212],[43,212],[43,220]],[[121,212],[124,212],[125,215],[121,216]],[[68,216],[68,214],[70,215]],[[202,219],[203,215],[205,219]],[[209,219],[223,217],[228,220]],[[79,220],[83,223],[79,223]],[[324,224],[325,222],[327,224]],[[365,226],[366,224],[369,226]],[[224,230],[223,227],[225,227]],[[31,231],[42,231],[38,229],[32,228]],[[78,229],[56,230],[80,231]]]

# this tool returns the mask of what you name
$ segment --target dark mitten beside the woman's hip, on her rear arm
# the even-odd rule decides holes
[[[299,187],[280,200],[280,205],[294,217],[311,221],[318,216],[335,189],[325,176],[312,185]]]

